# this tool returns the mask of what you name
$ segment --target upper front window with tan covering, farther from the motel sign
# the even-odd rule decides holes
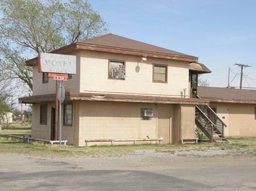
[[[153,65],[153,82],[167,83],[167,65]]]

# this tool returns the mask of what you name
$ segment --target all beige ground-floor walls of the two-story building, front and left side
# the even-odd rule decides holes
[[[51,108],[47,105],[47,125],[39,124],[40,105],[33,105],[32,137],[51,138]],[[140,119],[140,108],[153,109],[150,120]],[[74,101],[72,126],[63,126],[62,140],[84,146],[85,139],[155,139],[157,111],[170,111],[170,142],[194,138],[194,106],[156,105],[152,103],[122,103],[111,101]],[[120,142],[119,142],[120,143]],[[99,142],[92,143],[99,144]]]

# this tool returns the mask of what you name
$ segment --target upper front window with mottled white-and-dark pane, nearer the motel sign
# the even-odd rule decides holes
[[[109,60],[109,79],[126,80],[126,63],[119,60]]]

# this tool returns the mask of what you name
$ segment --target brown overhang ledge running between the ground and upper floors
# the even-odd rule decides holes
[[[65,101],[117,101],[130,103],[162,103],[179,105],[209,105],[208,100],[195,98],[173,98],[170,96],[121,95],[102,93],[67,92]],[[49,103],[55,101],[55,94],[36,95],[19,98],[19,103]]]

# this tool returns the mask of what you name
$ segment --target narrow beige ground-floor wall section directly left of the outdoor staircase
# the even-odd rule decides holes
[[[195,138],[195,106],[180,106],[180,139]]]

